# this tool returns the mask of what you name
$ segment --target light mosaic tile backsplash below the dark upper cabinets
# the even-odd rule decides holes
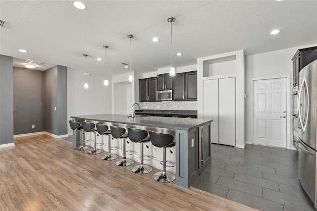
[[[197,110],[197,101],[145,102],[143,109],[151,110]]]

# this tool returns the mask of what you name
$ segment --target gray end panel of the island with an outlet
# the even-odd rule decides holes
[[[191,130],[175,130],[176,180],[175,184],[189,189],[198,178],[198,127]],[[193,140],[193,145],[192,145]]]

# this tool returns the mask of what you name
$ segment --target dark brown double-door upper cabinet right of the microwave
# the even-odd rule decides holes
[[[175,75],[174,101],[197,101],[197,71]]]

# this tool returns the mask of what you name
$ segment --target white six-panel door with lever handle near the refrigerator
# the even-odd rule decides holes
[[[253,143],[286,148],[286,78],[253,82]]]

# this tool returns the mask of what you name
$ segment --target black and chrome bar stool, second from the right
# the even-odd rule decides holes
[[[141,165],[137,165],[133,167],[132,171],[137,174],[147,174],[152,171],[152,167],[149,165],[144,165],[144,156],[143,156],[143,144],[150,141],[150,138],[148,137],[148,132],[145,130],[139,130],[134,128],[128,128],[128,134],[130,141],[134,143],[140,143],[141,144]]]

